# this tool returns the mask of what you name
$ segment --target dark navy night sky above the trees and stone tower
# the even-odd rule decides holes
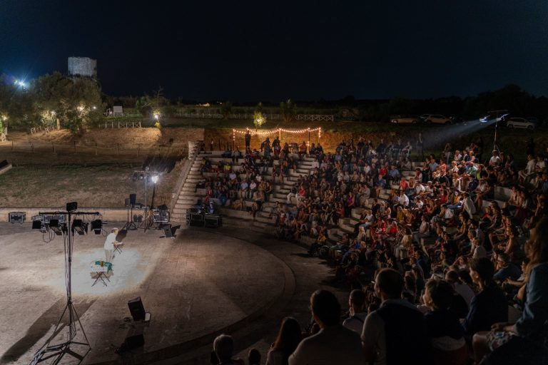
[[[547,0],[0,0],[0,72],[98,60],[111,95],[280,101],[548,96]]]

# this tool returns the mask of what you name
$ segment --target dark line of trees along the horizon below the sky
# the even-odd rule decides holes
[[[96,79],[71,77],[62,73],[40,76],[23,86],[14,78],[0,75],[0,133],[7,128],[30,129],[66,128],[74,134],[83,133],[103,122],[107,108],[122,105],[136,110],[142,117],[161,118],[183,113],[218,113],[228,118],[230,113],[253,113],[255,120],[265,113],[279,113],[286,123],[298,113],[334,114],[338,119],[356,121],[387,121],[391,115],[441,113],[463,119],[475,119],[489,110],[509,110],[513,115],[548,117],[548,98],[536,97],[516,85],[496,91],[460,98],[436,99],[392,98],[390,100],[359,100],[347,96],[335,101],[293,101],[281,103],[232,103],[213,101],[198,104],[172,101],[163,90],[144,96],[108,96],[101,91]],[[244,111],[245,110],[245,111]]]

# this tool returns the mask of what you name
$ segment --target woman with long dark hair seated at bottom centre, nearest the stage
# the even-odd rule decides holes
[[[266,365],[287,365],[288,358],[297,348],[303,334],[295,318],[285,317],[266,359]]]

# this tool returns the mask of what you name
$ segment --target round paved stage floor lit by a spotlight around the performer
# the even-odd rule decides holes
[[[92,348],[83,364],[118,361],[114,350],[133,334],[143,334],[138,351],[151,361],[200,339],[210,344],[216,333],[260,315],[283,295],[291,273],[270,252],[215,230],[182,228],[174,240],[159,230],[129,231],[107,287],[91,286],[91,263],[103,259],[105,237],[75,236],[73,302]],[[29,223],[1,224],[0,257],[0,364],[29,364],[66,304],[64,244],[60,236],[43,242]],[[148,324],[131,320],[127,302],[136,297],[151,312]]]

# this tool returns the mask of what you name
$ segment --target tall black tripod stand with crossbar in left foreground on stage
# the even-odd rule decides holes
[[[78,313],[76,312],[76,308],[74,307],[74,304],[72,302],[72,273],[71,273],[71,267],[72,267],[72,247],[73,247],[73,240],[74,240],[74,230],[71,227],[71,217],[72,215],[99,215],[99,212],[39,212],[39,215],[68,215],[68,222],[67,222],[67,229],[63,230],[64,232],[64,248],[65,248],[65,284],[66,284],[66,306],[63,310],[63,314],[61,314],[61,318],[59,318],[59,322],[57,322],[56,327],[54,328],[53,334],[49,337],[49,339],[46,341],[44,345],[41,346],[41,348],[36,351],[36,354],[34,354],[34,358],[31,361],[31,365],[36,365],[41,363],[42,361],[46,361],[47,359],[55,358],[51,364],[59,364],[61,359],[63,359],[63,356],[65,354],[68,354],[70,356],[73,356],[75,359],[78,359],[78,364],[83,360],[83,358],[88,354],[88,352],[91,350],[91,346],[89,344],[88,337],[86,336],[86,332],[83,331],[82,323],[80,322],[80,317],[78,317]],[[63,321],[63,318],[65,317],[65,314],[68,312],[68,334],[66,337],[66,341],[61,342],[59,344],[51,345],[51,341],[53,341],[56,336],[61,331],[61,322]],[[75,341],[75,337],[77,334],[77,328],[76,324],[80,327],[80,330],[83,334],[83,338],[85,339],[85,342]],[[81,355],[77,352],[73,351],[71,349],[72,345],[78,345],[78,346],[87,346],[87,351],[85,354]]]

